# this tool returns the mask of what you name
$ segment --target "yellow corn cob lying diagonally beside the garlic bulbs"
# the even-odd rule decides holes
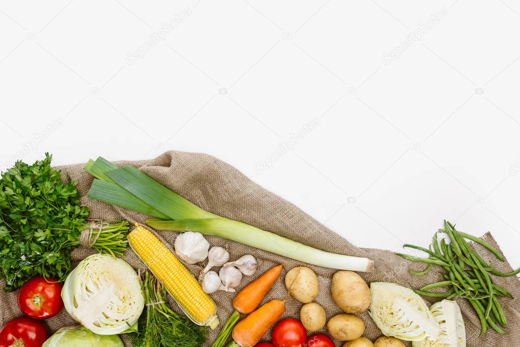
[[[218,325],[215,302],[157,236],[136,223],[128,242],[194,323],[212,329]]]

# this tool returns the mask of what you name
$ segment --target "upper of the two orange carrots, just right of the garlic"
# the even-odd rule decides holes
[[[240,313],[248,314],[256,310],[267,292],[275,284],[282,272],[283,265],[280,264],[256,278],[253,282],[240,290],[233,300],[233,307]]]

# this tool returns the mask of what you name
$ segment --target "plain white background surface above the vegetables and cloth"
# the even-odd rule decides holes
[[[0,165],[206,152],[355,245],[448,219],[517,267],[518,33],[512,0],[0,1]]]

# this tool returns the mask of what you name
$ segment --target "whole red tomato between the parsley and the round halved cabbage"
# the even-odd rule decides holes
[[[25,282],[18,293],[18,306],[22,312],[34,319],[54,317],[63,308],[61,288],[54,278],[36,276]]]

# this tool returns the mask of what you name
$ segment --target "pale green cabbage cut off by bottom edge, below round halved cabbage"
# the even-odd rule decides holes
[[[82,326],[61,328],[42,347],[124,347],[117,335],[97,335]]]

